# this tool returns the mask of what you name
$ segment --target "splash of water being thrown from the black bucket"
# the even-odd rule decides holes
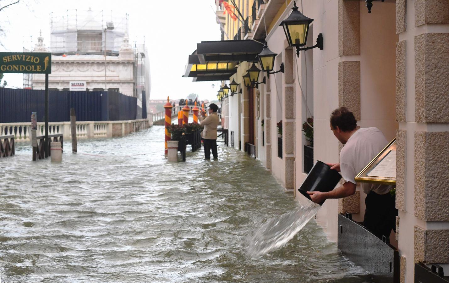
[[[261,256],[281,248],[317,214],[320,208],[319,204],[310,202],[309,205],[269,219],[252,235],[247,256]]]

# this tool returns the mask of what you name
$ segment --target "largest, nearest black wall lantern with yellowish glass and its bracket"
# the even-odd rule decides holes
[[[306,45],[307,35],[310,23],[313,22],[313,19],[304,16],[301,12],[298,11],[298,7],[296,6],[296,1],[293,2],[293,8],[290,16],[283,20],[280,24],[284,28],[285,36],[288,41],[288,45],[290,47],[296,47],[296,55],[299,57],[299,51],[301,50],[309,50],[318,47],[319,49],[323,49],[323,35],[320,33],[317,37],[317,44],[311,47],[300,48],[301,46]]]

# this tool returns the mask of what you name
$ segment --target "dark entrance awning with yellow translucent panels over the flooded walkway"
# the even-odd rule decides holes
[[[263,47],[254,40],[202,41],[189,55],[184,77],[194,81],[228,80],[238,63],[257,62],[256,55]]]

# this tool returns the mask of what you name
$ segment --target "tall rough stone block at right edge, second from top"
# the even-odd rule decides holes
[[[415,36],[415,121],[449,123],[449,33]]]

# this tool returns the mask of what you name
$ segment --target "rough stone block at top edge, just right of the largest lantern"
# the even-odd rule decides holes
[[[338,2],[339,56],[360,55],[360,4],[358,0]]]

